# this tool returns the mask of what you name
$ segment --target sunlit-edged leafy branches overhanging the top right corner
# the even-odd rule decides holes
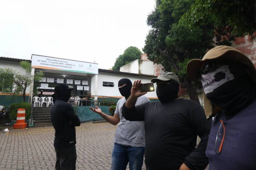
[[[196,0],[183,16],[191,25],[211,22],[217,28],[228,28],[233,37],[251,35],[255,38],[255,0]]]

